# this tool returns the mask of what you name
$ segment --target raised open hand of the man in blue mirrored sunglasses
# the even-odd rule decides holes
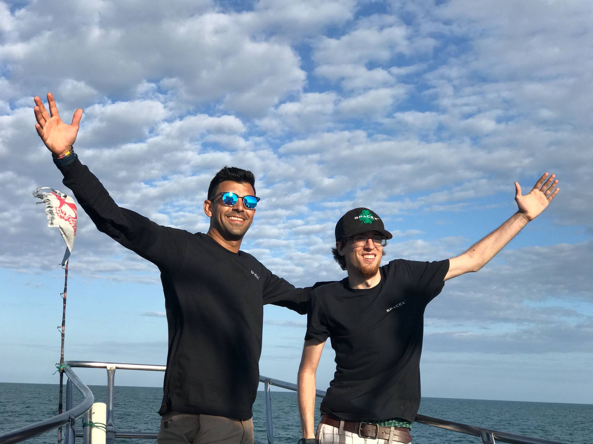
[[[35,112],[35,118],[37,119],[35,129],[47,149],[56,156],[72,149],[72,145],[76,140],[76,134],[78,133],[78,125],[82,117],[81,108],[74,111],[72,123],[68,125],[63,123],[62,119],[60,119],[60,116],[58,115],[58,107],[56,107],[56,102],[53,99],[51,92],[47,93],[49,114],[47,114],[39,96],[35,96],[33,100],[36,105],[36,107],[33,108],[33,111]]]

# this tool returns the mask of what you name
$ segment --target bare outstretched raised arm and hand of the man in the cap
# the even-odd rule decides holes
[[[484,239],[473,244],[463,255],[449,259],[449,271],[445,275],[447,279],[463,275],[467,272],[478,271],[492,259],[496,253],[503,249],[509,241],[519,233],[531,220],[534,220],[546,209],[551,200],[556,197],[560,188],[556,188],[557,180],[555,175],[549,176],[544,173],[540,180],[529,194],[521,195],[521,185],[515,182],[515,201],[517,201],[517,213],[503,223]],[[547,180],[546,180],[547,178]]]

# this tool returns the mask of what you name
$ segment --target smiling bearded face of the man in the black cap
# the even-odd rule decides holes
[[[370,238],[372,236],[382,236],[382,233],[372,230],[361,233],[361,236]],[[363,246],[358,246],[350,238],[346,239],[343,245],[336,242],[336,247],[338,253],[343,255],[346,260],[346,269],[349,276],[350,274],[356,274],[362,278],[372,278],[378,274],[383,256],[383,247],[375,245],[372,239],[368,239]]]

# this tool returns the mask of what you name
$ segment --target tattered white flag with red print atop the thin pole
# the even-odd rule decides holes
[[[70,253],[72,253],[74,237],[76,236],[76,214],[78,213],[76,204],[70,196],[47,186],[37,188],[33,195],[40,198],[45,204],[47,226],[58,227],[64,242],[66,242],[66,253],[64,253],[62,259],[62,265],[65,265]],[[37,203],[41,204],[42,202]]]

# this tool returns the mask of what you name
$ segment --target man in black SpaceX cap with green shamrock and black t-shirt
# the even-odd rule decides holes
[[[547,179],[547,180],[546,180]],[[298,372],[302,439],[314,444],[315,372],[329,337],[336,373],[321,402],[320,443],[410,443],[420,406],[420,354],[426,304],[444,281],[478,271],[556,196],[545,173],[521,195],[518,211],[467,252],[436,262],[396,259],[381,265],[391,239],[369,208],[355,208],[336,224],[334,258],[348,275],[316,288],[309,301],[307,334]],[[383,441],[381,441],[383,440]]]

